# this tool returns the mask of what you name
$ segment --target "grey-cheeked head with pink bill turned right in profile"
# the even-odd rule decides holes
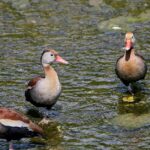
[[[47,66],[54,62],[59,62],[62,64],[68,64],[66,60],[64,60],[55,50],[46,49],[43,51],[41,56],[41,62],[43,66]]]

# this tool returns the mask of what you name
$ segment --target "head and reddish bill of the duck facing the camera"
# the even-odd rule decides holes
[[[129,51],[134,47],[135,38],[132,32],[127,32],[125,35],[125,50]]]

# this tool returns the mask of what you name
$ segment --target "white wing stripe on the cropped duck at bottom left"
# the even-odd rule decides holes
[[[9,127],[20,127],[20,128],[26,127],[32,131],[32,129],[29,127],[27,123],[24,123],[23,121],[20,120],[0,119],[0,123],[3,124],[4,126],[9,126]]]

